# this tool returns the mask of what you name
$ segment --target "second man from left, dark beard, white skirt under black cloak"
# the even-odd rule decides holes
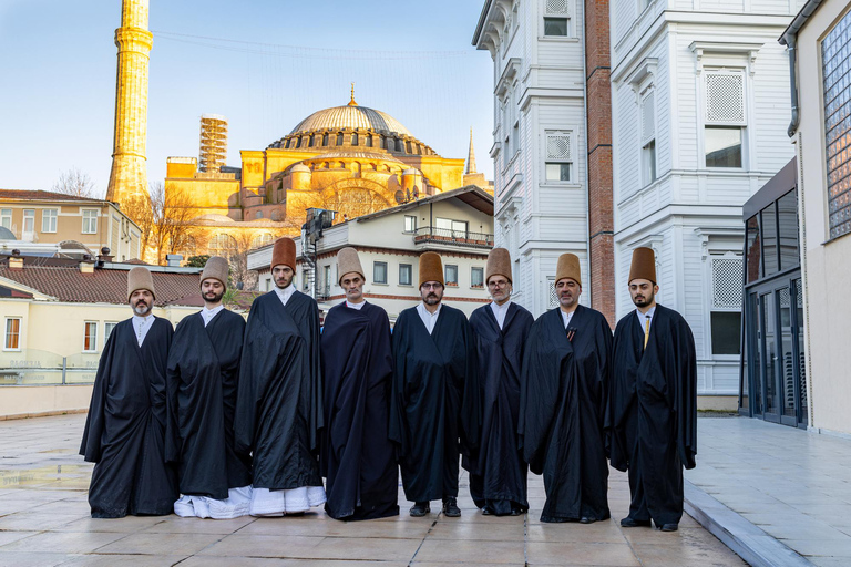
[[[245,319],[222,305],[228,265],[213,256],[201,275],[204,309],[177,324],[168,354],[166,458],[178,466],[178,516],[248,514],[250,460],[234,450],[234,411]]]

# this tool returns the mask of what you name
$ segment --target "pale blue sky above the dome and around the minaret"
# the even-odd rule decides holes
[[[493,71],[471,38],[483,0],[152,0],[148,181],[197,156],[198,117],[229,121],[228,165],[315,111],[389,113],[493,176]],[[50,189],[71,167],[105,193],[121,0],[0,0],[0,188]]]

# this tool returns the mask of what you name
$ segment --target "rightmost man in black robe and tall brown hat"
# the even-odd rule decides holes
[[[612,466],[629,472],[624,527],[676,532],[683,517],[683,466],[697,454],[697,362],[686,320],[656,303],[656,259],[636,248],[629,295],[636,310],[617,322],[609,405]]]

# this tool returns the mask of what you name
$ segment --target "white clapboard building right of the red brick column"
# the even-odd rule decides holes
[[[658,300],[688,321],[701,405],[739,385],[742,205],[792,157],[777,38],[802,0],[613,0],[615,288],[655,250]]]

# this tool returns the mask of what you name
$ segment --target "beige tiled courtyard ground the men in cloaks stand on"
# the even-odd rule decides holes
[[[530,477],[525,516],[484,517],[462,478],[461,518],[403,514],[340,523],[322,512],[301,518],[235,520],[127,517],[91,519],[91,465],[76,455],[84,415],[0,422],[0,566],[736,566],[745,565],[685,516],[677,533],[621,529],[626,476],[609,480],[613,520],[541,524],[541,477]],[[437,503],[435,503],[437,504]]]

